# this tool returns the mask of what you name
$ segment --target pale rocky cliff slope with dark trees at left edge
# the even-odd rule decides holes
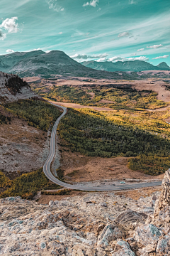
[[[27,82],[23,82],[17,75],[0,72],[0,104],[19,99],[37,97]]]

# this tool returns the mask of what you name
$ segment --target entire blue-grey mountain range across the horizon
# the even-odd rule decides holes
[[[142,60],[116,63],[91,60],[78,63],[60,50],[52,50],[50,53],[33,50],[0,55],[0,71],[20,77],[50,78],[52,75],[64,75],[89,78],[128,78],[130,74],[125,72],[143,70],[170,70],[170,67],[164,62],[154,66]],[[123,73],[119,74],[120,71]]]

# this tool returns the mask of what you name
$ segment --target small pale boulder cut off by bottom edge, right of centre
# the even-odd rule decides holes
[[[118,240],[112,256],[135,256],[135,253],[130,249],[128,242]]]

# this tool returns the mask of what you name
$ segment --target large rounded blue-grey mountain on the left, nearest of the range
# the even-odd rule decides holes
[[[106,71],[93,70],[77,63],[60,50],[52,50],[45,53],[42,50],[34,50],[28,53],[11,53],[0,56],[0,70],[14,73],[20,77],[50,75],[81,76],[91,78],[128,78],[128,74],[119,75]]]

